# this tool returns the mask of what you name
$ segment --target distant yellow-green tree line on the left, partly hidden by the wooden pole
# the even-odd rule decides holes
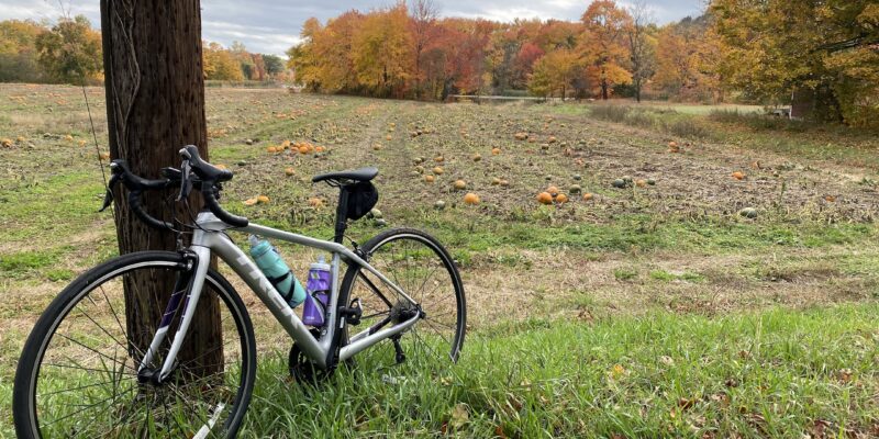
[[[209,80],[292,79],[281,57],[249,53],[237,42],[229,48],[202,42],[202,58]],[[102,64],[101,33],[82,15],[55,24],[0,22],[0,82],[101,83]]]

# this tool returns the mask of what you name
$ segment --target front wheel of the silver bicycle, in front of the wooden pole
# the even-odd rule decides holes
[[[256,347],[244,304],[219,273],[208,272],[170,374],[144,373],[164,363],[192,271],[178,254],[145,251],[67,286],[24,345],[13,390],[18,436],[234,437],[253,392]],[[205,316],[209,323],[199,319]],[[164,341],[149,347],[156,333]]]

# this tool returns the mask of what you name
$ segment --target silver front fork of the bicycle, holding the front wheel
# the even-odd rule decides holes
[[[141,382],[152,381],[155,384],[162,383],[171,373],[171,369],[177,360],[177,354],[180,352],[180,347],[183,345],[189,325],[192,323],[192,317],[198,307],[201,291],[204,288],[204,279],[208,275],[208,268],[211,263],[211,250],[207,247],[190,247],[185,252],[187,266],[183,268],[183,273],[178,278],[174,288],[168,305],[165,307],[165,313],[162,316],[162,322],[153,336],[149,348],[146,350],[141,364],[137,368],[137,379]],[[170,329],[171,322],[175,314],[180,306],[180,300],[186,295],[182,307],[182,316],[177,325],[177,330],[171,341],[171,347],[168,350],[167,357],[162,363],[159,371],[149,370],[148,365],[153,362],[154,357],[158,352],[159,347],[165,341],[165,337]]]

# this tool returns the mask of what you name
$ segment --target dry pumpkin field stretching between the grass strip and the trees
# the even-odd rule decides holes
[[[88,97],[105,151],[103,91],[89,89]],[[11,140],[0,148],[7,164],[0,170],[0,293],[12,297],[0,307],[0,352],[9,364],[45,304],[78,272],[113,255],[115,244],[111,216],[94,212],[102,183],[82,91],[2,86],[0,102],[0,138]],[[389,226],[426,228],[458,259],[474,327],[546,314],[594,319],[664,308],[716,315],[879,296],[876,169],[774,153],[761,144],[766,136],[676,138],[588,114],[586,104],[208,91],[211,160],[236,173],[225,198],[230,210],[329,237],[335,193],[309,178],[378,166],[378,207]],[[528,139],[518,140],[516,133]],[[810,133],[779,135],[824,142]],[[326,151],[268,153],[285,140]],[[876,142],[860,147],[865,156],[879,154]],[[435,166],[443,173],[426,183]],[[634,184],[613,187],[625,177]],[[456,180],[467,189],[454,190]],[[570,202],[539,205],[536,195],[549,185]],[[480,204],[465,205],[465,192],[478,194]],[[258,194],[271,201],[243,204]],[[327,206],[310,206],[315,196]],[[437,201],[444,210],[434,207]],[[746,207],[756,218],[739,214]],[[377,230],[364,219],[351,236],[364,241]],[[304,271],[312,255],[286,251]]]

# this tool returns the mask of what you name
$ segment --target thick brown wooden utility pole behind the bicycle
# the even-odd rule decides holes
[[[111,158],[125,159],[134,173],[154,179],[163,167],[180,165],[178,150],[185,145],[197,145],[207,158],[199,0],[101,0],[101,31]],[[146,211],[168,221],[171,206],[188,221],[189,214],[167,203],[167,195],[146,194]],[[175,234],[147,227],[125,200],[118,191],[120,254],[175,250]],[[190,201],[197,213],[201,200],[193,195]],[[162,319],[175,279],[141,278],[124,285],[125,313],[130,339],[145,351],[154,328],[144,324]],[[215,295],[202,295],[180,361],[194,359],[193,367],[202,371],[222,367],[221,329]]]

